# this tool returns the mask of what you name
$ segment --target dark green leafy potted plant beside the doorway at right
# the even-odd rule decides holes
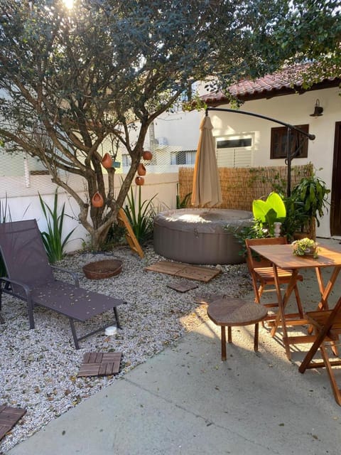
[[[303,203],[305,214],[309,218],[315,218],[317,225],[320,226],[318,217],[322,218],[324,209],[328,210],[329,193],[330,190],[325,182],[313,174],[313,176],[301,179],[301,182],[293,188],[291,197]]]

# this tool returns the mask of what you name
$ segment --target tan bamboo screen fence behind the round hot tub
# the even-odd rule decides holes
[[[301,178],[313,175],[313,164],[292,166],[291,188],[296,186]],[[188,193],[192,193],[194,168],[179,169],[179,196],[182,201]],[[271,191],[281,188],[286,192],[288,168],[259,167],[259,168],[219,168],[220,186],[222,188],[222,205],[220,208],[234,210],[251,210],[254,199],[266,198]],[[190,199],[188,207],[191,206]]]

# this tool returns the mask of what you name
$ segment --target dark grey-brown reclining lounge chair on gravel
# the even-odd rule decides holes
[[[84,322],[113,309],[117,327],[121,328],[117,306],[124,304],[124,300],[82,289],[75,272],[50,265],[36,220],[0,223],[0,252],[8,275],[0,278],[0,310],[4,292],[26,301],[30,328],[35,325],[33,309],[36,305],[67,316],[76,349],[80,348],[79,341],[103,327],[77,336],[75,321]],[[70,274],[73,284],[55,279],[54,269]]]

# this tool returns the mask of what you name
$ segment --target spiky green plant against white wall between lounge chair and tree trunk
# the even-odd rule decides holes
[[[64,218],[68,215],[65,214],[65,203],[63,203],[60,215],[58,215],[58,189],[55,190],[53,208],[50,208],[48,204],[45,203],[40,194],[39,200],[45,220],[48,223],[48,232],[44,231],[40,232],[40,234],[43,238],[45,250],[48,254],[48,260],[50,264],[54,264],[55,262],[60,261],[60,259],[63,259],[65,256],[65,245],[69,241],[75,228],[72,229],[62,241]]]

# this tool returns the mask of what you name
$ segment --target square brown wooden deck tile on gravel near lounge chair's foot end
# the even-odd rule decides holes
[[[122,353],[85,353],[77,376],[117,375],[121,357]]]

